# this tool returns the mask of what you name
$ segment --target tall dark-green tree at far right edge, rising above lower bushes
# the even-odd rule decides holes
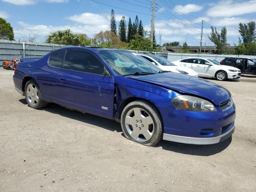
[[[238,32],[242,36],[242,40],[244,44],[256,42],[256,25],[254,21],[248,22],[247,24],[239,23]]]

